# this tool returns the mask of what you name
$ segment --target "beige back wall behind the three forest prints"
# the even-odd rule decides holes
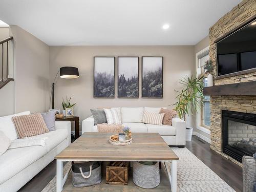
[[[80,116],[80,120],[83,120],[91,115],[90,109],[100,106],[167,106],[173,104],[177,95],[174,90],[182,88],[179,79],[195,72],[194,53],[194,46],[50,46],[51,82],[59,68],[63,66],[77,67],[80,73],[77,79],[57,79],[55,108],[61,108],[62,97],[72,96],[72,102],[77,103],[74,113]],[[117,98],[117,62],[115,63],[116,98],[93,98],[94,56],[139,56],[140,70],[141,56],[163,56],[163,98],[141,98],[141,71],[139,71],[140,98]],[[193,121],[188,119],[188,122]]]

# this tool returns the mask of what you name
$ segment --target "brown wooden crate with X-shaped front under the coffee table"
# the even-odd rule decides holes
[[[129,162],[110,162],[106,166],[106,183],[113,185],[127,185],[129,177]]]

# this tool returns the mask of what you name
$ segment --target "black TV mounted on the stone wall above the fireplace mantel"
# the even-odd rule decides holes
[[[217,42],[218,76],[256,69],[256,19]]]

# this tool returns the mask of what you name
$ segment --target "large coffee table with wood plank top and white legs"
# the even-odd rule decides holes
[[[70,169],[63,177],[63,162],[66,161],[159,161],[164,165],[172,192],[177,191],[178,156],[158,133],[133,133],[133,143],[116,146],[109,143],[113,133],[84,133],[59,153],[56,171],[56,191],[60,192]],[[167,162],[170,162],[169,170]]]

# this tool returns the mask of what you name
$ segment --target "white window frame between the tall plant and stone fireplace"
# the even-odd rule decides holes
[[[208,55],[208,54],[209,54],[209,46],[202,49],[198,53],[196,53],[196,73],[197,73],[197,77],[199,77],[201,74],[203,74],[203,70],[202,70],[203,66],[201,66],[201,67],[199,66],[200,65],[199,59]],[[207,77],[207,75],[205,74],[204,78],[206,78],[206,77]],[[209,101],[203,101],[203,102],[209,102]],[[205,121],[204,112],[205,112],[204,111],[204,106],[201,106],[201,109],[198,110],[198,113],[196,115],[197,116],[196,126],[197,126],[197,129],[209,134],[210,133],[210,126],[204,124],[204,121]]]

